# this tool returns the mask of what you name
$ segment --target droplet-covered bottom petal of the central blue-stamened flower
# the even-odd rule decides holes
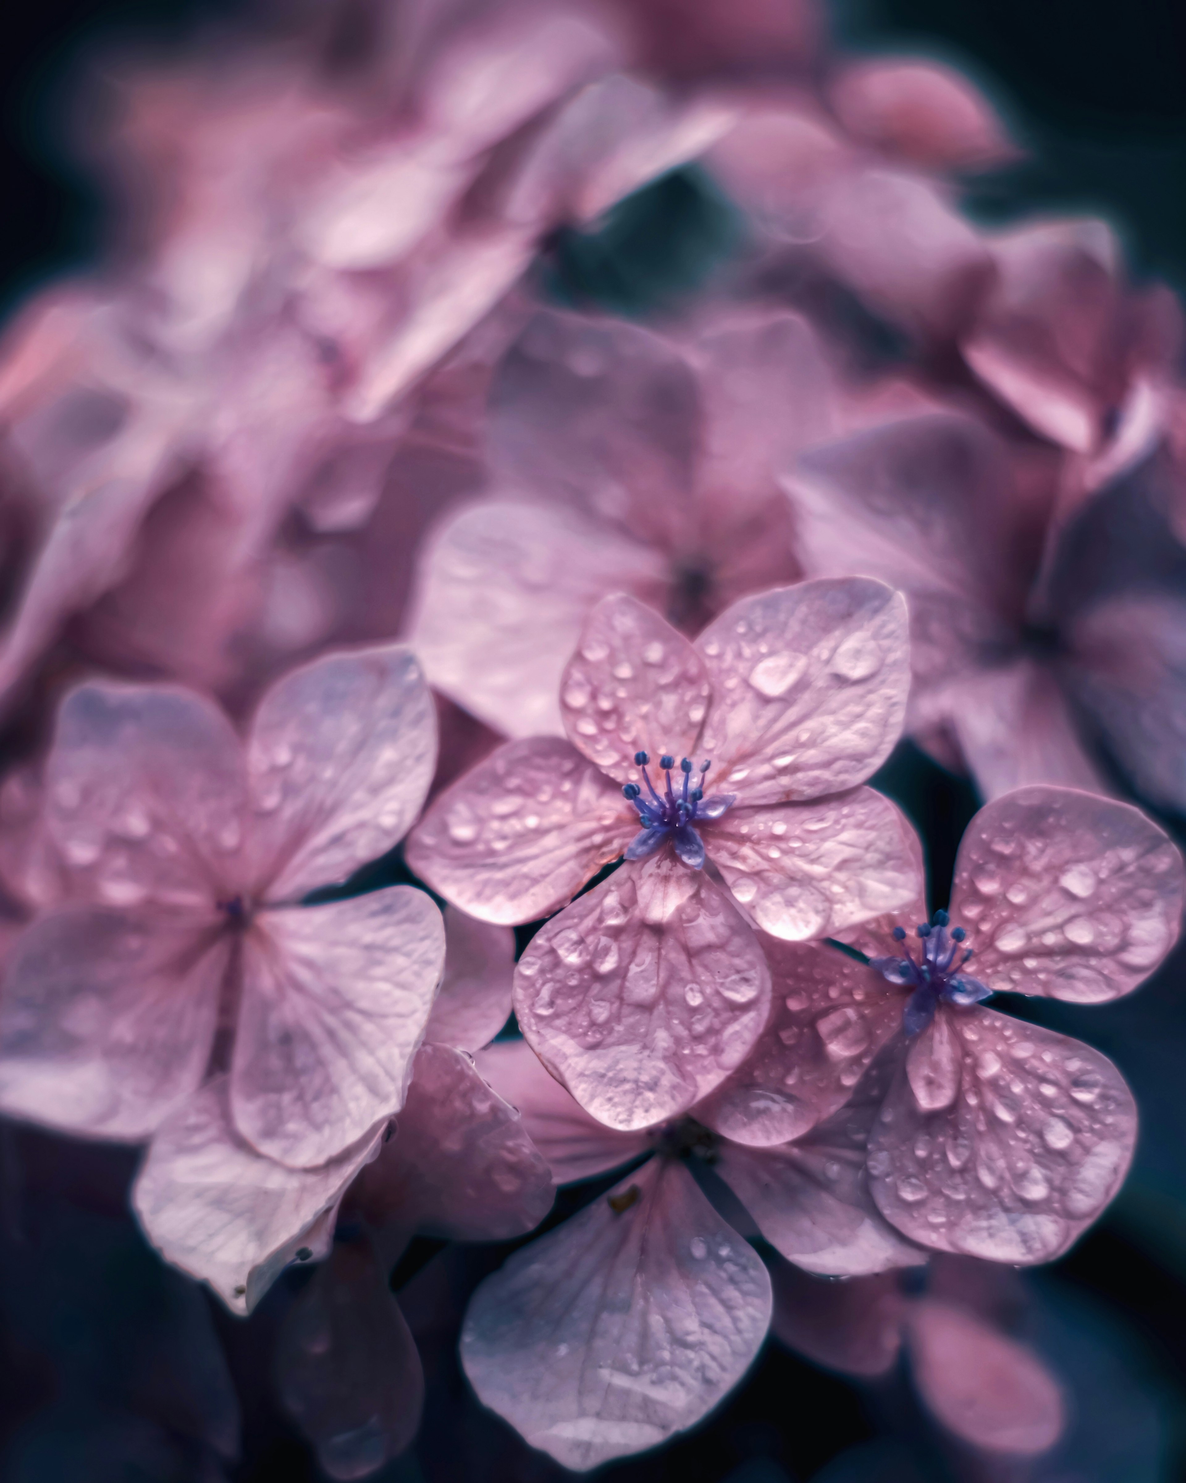
[[[669,850],[553,916],[514,974],[514,1013],[535,1053],[623,1132],[707,1096],[753,1047],[768,1008],[753,928]]]

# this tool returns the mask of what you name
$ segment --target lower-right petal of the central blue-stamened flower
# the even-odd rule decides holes
[[[901,912],[924,885],[913,830],[872,787],[731,808],[704,828],[704,848],[753,921],[787,942]]]

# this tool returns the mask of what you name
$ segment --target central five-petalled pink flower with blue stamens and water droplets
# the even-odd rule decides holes
[[[695,644],[605,598],[565,670],[569,740],[500,747],[412,835],[412,868],[497,922],[554,912],[626,854],[514,980],[523,1034],[605,1123],[673,1117],[746,1057],[769,1005],[752,922],[821,937],[915,897],[907,832],[860,786],[897,739],[904,624],[858,578],[746,598]]]

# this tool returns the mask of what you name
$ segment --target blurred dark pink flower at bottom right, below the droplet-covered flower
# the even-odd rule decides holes
[[[1002,1309],[1024,1301],[1005,1269],[937,1256],[919,1293],[892,1274],[821,1283],[786,1262],[771,1266],[771,1280],[772,1329],[783,1344],[870,1379],[904,1352],[927,1410],[978,1452],[1032,1458],[1061,1437],[1064,1387],[1002,1321]]]

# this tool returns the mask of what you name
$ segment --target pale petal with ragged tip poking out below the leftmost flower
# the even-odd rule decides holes
[[[228,1094],[228,1078],[219,1077],[160,1126],[132,1207],[166,1262],[248,1314],[301,1252],[305,1261],[326,1255],[342,1192],[374,1158],[384,1129],[369,1129],[319,1169],[286,1169],[239,1137]]]

